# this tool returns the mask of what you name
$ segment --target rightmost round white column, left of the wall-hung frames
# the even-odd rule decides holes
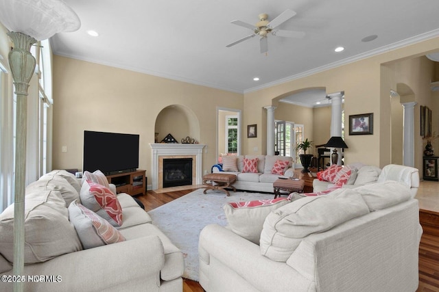
[[[414,106],[416,102],[403,103],[403,164],[414,168]]]

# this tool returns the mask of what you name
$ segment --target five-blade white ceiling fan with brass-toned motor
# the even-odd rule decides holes
[[[254,34],[250,34],[250,36],[246,36],[244,38],[241,38],[240,40],[232,42],[231,44],[228,44],[226,47],[229,48],[234,46],[235,44],[239,44],[239,42],[244,42],[244,40],[253,38],[254,36],[260,36],[261,38],[259,39],[259,44],[261,47],[261,53],[267,53],[268,34],[272,34],[273,36],[281,36],[284,38],[303,38],[305,36],[305,33],[303,31],[275,29],[276,27],[287,21],[289,18],[292,18],[294,15],[296,15],[296,12],[287,9],[270,22],[267,20],[268,15],[265,13],[259,14],[259,22],[256,25],[250,25],[249,23],[244,23],[244,21],[232,21],[231,23],[233,23],[234,25],[239,25],[241,27],[246,27],[248,29],[251,29],[254,32]]]

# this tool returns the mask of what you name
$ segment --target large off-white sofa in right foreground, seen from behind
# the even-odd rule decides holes
[[[206,226],[200,284],[207,292],[413,292],[421,235],[418,201],[404,183],[340,188],[270,211],[259,245],[230,226]]]

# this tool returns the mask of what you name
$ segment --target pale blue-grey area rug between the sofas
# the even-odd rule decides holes
[[[197,189],[172,202],[164,204],[148,214],[152,223],[171,239],[183,252],[185,272],[183,278],[198,281],[198,239],[204,226],[216,223],[226,226],[226,215],[222,209],[226,202],[246,202],[271,199],[273,194],[259,194],[230,191],[230,196],[222,191]]]

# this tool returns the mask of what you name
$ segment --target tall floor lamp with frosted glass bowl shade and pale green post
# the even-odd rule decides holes
[[[16,94],[16,147],[14,181],[14,275],[24,271],[25,174],[27,135],[27,89],[36,60],[30,48],[61,31],[76,31],[78,15],[60,0],[0,0],[0,23],[8,29],[13,44],[8,55]],[[23,291],[23,282],[14,282],[14,291]]]

